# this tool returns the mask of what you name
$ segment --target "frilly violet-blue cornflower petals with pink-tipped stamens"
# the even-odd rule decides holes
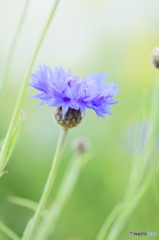
[[[42,100],[41,105],[62,107],[63,118],[69,108],[81,110],[85,114],[86,108],[93,109],[99,117],[111,114],[110,105],[117,103],[113,97],[117,96],[117,84],[104,83],[107,74],[91,74],[85,79],[65,72],[62,67],[51,70],[48,66],[40,66],[39,71],[31,74],[32,87],[40,91],[33,97]]]

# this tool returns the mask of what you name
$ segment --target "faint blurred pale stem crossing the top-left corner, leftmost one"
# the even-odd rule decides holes
[[[9,69],[10,69],[11,61],[12,61],[12,58],[13,58],[13,55],[14,55],[15,47],[17,45],[17,41],[18,41],[18,38],[19,38],[19,35],[20,35],[20,32],[21,32],[22,26],[24,24],[24,20],[25,20],[26,15],[27,15],[29,2],[30,2],[30,0],[26,0],[26,2],[25,2],[25,5],[24,5],[23,11],[22,11],[22,15],[20,17],[19,24],[17,26],[16,32],[15,32],[15,35],[14,35],[14,38],[13,38],[13,41],[12,41],[12,44],[11,44],[11,48],[10,48],[10,51],[9,51],[9,54],[8,54],[7,63],[6,63],[4,73],[3,73],[3,76],[2,76],[2,81],[1,81],[1,84],[0,84],[0,102],[3,99],[4,90],[5,90],[5,86],[6,86],[6,81],[7,81],[8,75],[9,75]]]

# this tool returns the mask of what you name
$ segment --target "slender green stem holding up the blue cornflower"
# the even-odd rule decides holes
[[[53,183],[54,183],[55,178],[56,178],[56,174],[57,174],[61,154],[62,154],[62,151],[63,151],[66,135],[67,135],[67,129],[61,128],[60,137],[59,137],[59,141],[58,141],[58,144],[57,144],[57,148],[56,148],[55,156],[54,156],[54,159],[53,159],[52,167],[51,167],[50,173],[48,175],[48,179],[46,181],[46,184],[45,184],[40,202],[38,204],[38,207],[36,209],[36,212],[35,212],[33,218],[30,220],[29,224],[26,227],[26,230],[24,232],[22,240],[33,239],[34,232],[35,232],[36,227],[37,227],[37,225],[40,221],[41,214],[44,211],[45,205],[47,203],[47,200],[48,200],[48,197],[50,195]]]

